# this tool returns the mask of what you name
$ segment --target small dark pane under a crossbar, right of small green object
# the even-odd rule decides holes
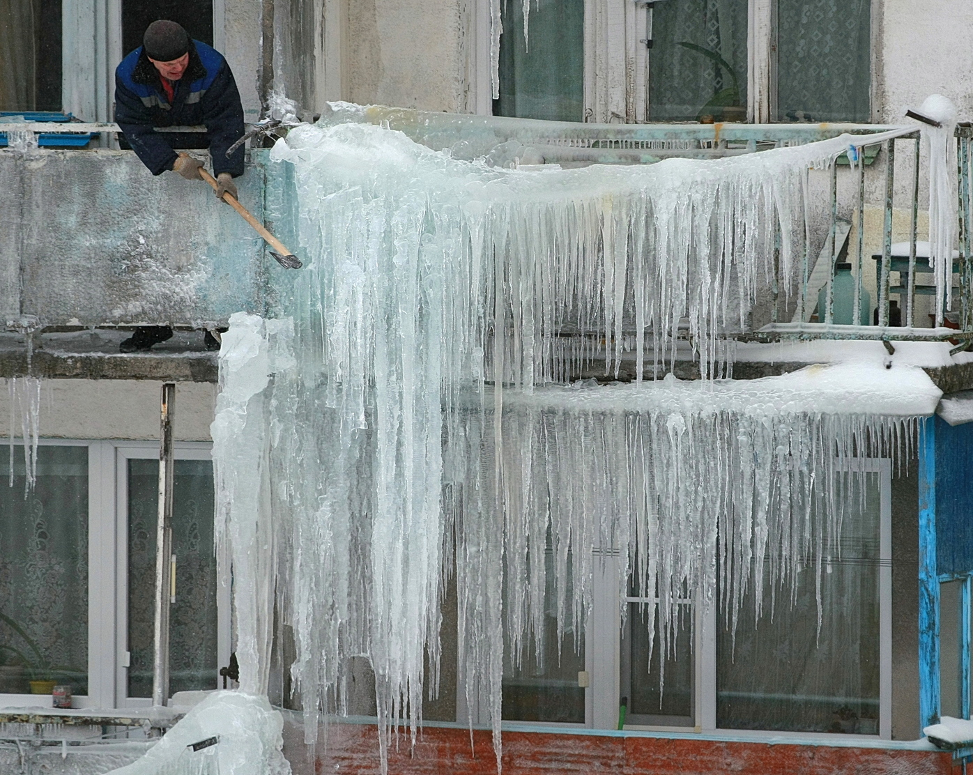
[[[623,679],[623,695],[629,697],[628,723],[693,726],[694,678],[693,609],[680,605],[678,620],[673,622],[669,643],[659,637],[659,620],[650,635],[648,612],[640,603],[629,603],[629,620],[623,636],[623,674],[628,665],[628,691]],[[658,616],[658,615],[657,615]],[[652,658],[649,658],[649,638]],[[660,669],[662,668],[662,669]]]

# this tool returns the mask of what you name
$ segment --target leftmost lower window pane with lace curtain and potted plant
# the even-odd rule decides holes
[[[24,498],[23,447],[0,446],[0,692],[88,693],[88,447],[37,448]],[[50,704],[50,697],[48,697]]]

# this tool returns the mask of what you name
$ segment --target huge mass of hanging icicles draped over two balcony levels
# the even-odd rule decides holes
[[[233,317],[213,424],[244,687],[265,690],[276,600],[307,730],[342,711],[348,657],[364,654],[381,744],[400,718],[414,733],[454,567],[460,672],[488,698],[499,755],[503,629],[540,632],[549,529],[561,629],[588,615],[595,547],[658,583],[664,632],[680,590],[716,604],[717,531],[723,605],[765,557],[773,582],[792,579],[863,491],[857,461],[935,409],[921,370],[565,382],[595,356],[616,369],[630,325],[639,367],[665,363],[683,329],[717,373],[775,230],[797,271],[806,170],[860,139],[523,171],[373,125],[292,131],[273,156],[306,268],[274,275],[278,320]]]

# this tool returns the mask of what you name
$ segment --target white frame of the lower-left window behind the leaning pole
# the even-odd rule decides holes
[[[15,444],[21,441],[15,440]],[[159,443],[126,440],[42,439],[43,446],[88,447],[88,687],[75,708],[142,708],[151,698],[126,697],[127,674],[127,461],[158,459]],[[209,460],[212,444],[177,441],[176,460]],[[229,663],[230,590],[217,585],[218,665]],[[217,675],[216,680],[219,680]],[[217,684],[216,686],[220,686]],[[39,694],[0,694],[0,707],[50,707]]]

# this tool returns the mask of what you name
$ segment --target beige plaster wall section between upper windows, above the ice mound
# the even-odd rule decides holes
[[[346,99],[459,113],[466,53],[459,0],[347,0]]]

